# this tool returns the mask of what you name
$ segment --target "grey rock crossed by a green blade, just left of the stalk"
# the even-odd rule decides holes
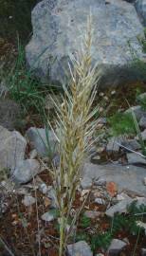
[[[44,128],[30,127],[26,134],[33,149],[36,149],[41,156],[54,155],[57,139],[54,133]]]

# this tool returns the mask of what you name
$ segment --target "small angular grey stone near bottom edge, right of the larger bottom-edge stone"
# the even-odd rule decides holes
[[[119,252],[126,247],[127,243],[119,239],[113,239],[110,247],[108,248],[109,255],[119,255]]]

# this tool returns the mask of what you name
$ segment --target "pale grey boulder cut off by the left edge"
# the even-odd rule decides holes
[[[13,169],[24,159],[27,141],[20,133],[0,126],[0,169]]]

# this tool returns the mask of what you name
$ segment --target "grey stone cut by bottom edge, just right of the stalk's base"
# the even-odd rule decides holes
[[[67,256],[93,256],[91,248],[85,241],[67,246]]]

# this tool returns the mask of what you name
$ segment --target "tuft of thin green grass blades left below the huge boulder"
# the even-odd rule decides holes
[[[15,64],[5,75],[4,80],[9,87],[10,98],[18,102],[26,110],[40,112],[45,105],[46,88],[33,78],[27,70],[25,49],[18,40],[18,56]]]

